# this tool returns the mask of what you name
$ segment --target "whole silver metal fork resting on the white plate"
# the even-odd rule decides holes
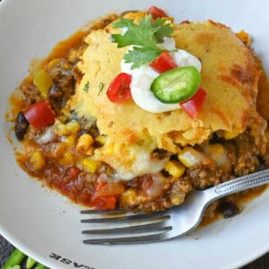
[[[91,214],[91,218],[81,222],[91,223],[91,226],[88,226],[90,230],[82,230],[82,234],[91,235],[91,238],[83,243],[134,244],[178,238],[195,230],[213,201],[268,183],[269,169],[265,169],[204,191],[193,191],[183,204],[159,213],[84,210],[81,213]]]

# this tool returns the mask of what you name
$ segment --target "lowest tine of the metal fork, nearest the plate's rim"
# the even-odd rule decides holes
[[[145,236],[134,236],[125,238],[108,238],[108,239],[86,239],[83,240],[84,244],[100,244],[100,245],[112,245],[112,244],[138,244],[138,243],[152,243],[156,241],[163,241],[169,239],[167,232],[145,235]]]

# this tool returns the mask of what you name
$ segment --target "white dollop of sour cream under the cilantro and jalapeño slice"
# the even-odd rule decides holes
[[[159,48],[169,50],[178,67],[193,65],[201,72],[201,62],[186,50],[176,48],[175,40],[164,38]],[[133,48],[129,48],[133,49]],[[178,104],[165,104],[158,100],[151,91],[153,80],[159,75],[150,65],[142,65],[140,68],[131,69],[130,63],[121,61],[121,71],[132,76],[130,84],[132,98],[137,106],[152,113],[161,113],[180,109]]]

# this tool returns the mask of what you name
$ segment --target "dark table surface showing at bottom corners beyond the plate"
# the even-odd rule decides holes
[[[12,251],[13,246],[9,244],[0,235],[0,268],[3,267],[4,261],[11,254]],[[268,268],[269,268],[269,253],[267,253],[265,256],[260,257],[251,264],[243,266],[241,269],[268,269]]]

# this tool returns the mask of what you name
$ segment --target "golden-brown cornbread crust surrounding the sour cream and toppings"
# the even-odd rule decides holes
[[[130,17],[130,14],[128,15]],[[137,14],[136,14],[137,16]],[[178,48],[187,50],[202,63],[201,86],[207,91],[204,108],[195,119],[181,110],[150,113],[134,101],[112,103],[106,91],[121,72],[127,48],[117,48],[109,39],[113,29],[92,30],[78,64],[83,77],[69,106],[79,117],[95,117],[101,134],[112,143],[151,143],[152,148],[177,152],[178,145],[204,143],[213,133],[230,139],[243,133],[256,113],[259,71],[252,52],[221,23],[173,24]],[[83,87],[89,82],[89,91]],[[100,82],[104,91],[100,91]]]

